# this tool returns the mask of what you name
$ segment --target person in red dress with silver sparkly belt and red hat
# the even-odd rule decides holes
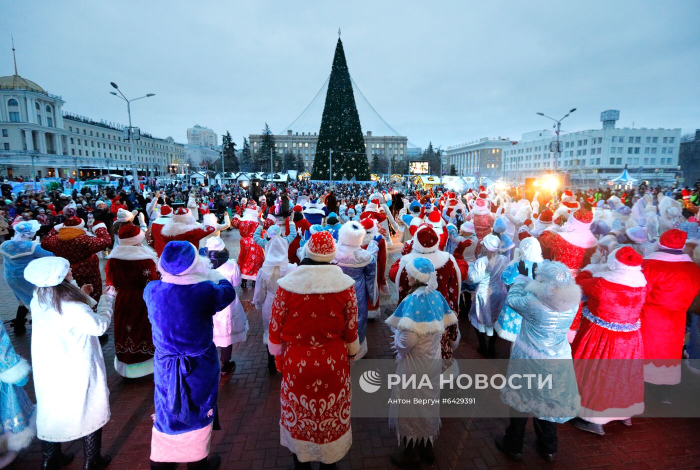
[[[642,256],[622,247],[608,263],[588,265],[576,278],[587,307],[571,344],[581,394],[578,429],[603,435],[603,424],[644,412],[644,348],[640,326],[647,281]],[[624,360],[623,360],[624,359]]]

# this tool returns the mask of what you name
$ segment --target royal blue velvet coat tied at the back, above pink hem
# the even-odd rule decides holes
[[[214,315],[232,303],[236,291],[218,284],[151,281],[144,289],[153,328],[155,429],[183,434],[209,426],[216,415],[219,364]]]

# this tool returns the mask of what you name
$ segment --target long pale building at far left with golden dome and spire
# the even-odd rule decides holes
[[[15,74],[0,77],[0,172],[2,176],[92,177],[99,174],[175,172],[184,146],[172,137],[141,132],[134,160],[125,126],[64,113],[64,101]]]

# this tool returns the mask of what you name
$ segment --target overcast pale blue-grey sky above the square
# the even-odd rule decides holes
[[[10,34],[21,76],[64,111],[186,141],[282,132],[330,74],[342,28],[350,73],[374,109],[416,145],[519,139],[549,127],[700,127],[700,1],[29,1],[3,0],[0,76]],[[385,134],[360,104],[363,131]],[[323,100],[321,99],[321,104]],[[312,106],[314,108],[314,106]],[[320,109],[302,118],[318,131]],[[315,114],[314,114],[315,113]],[[313,128],[315,126],[315,128]],[[305,127],[305,128],[304,128]]]

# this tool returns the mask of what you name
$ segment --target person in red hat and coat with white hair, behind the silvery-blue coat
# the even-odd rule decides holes
[[[593,212],[579,209],[568,218],[559,232],[542,231],[538,237],[542,247],[542,258],[559,261],[569,268],[572,276],[578,275],[581,268],[589,265],[591,256],[598,248],[598,240],[591,233],[591,222],[593,222]],[[576,331],[580,322],[579,309],[571,324],[571,331]]]

